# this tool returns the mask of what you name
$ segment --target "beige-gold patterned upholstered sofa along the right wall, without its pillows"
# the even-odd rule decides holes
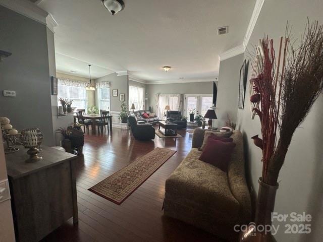
[[[194,130],[191,152],[166,180],[164,214],[236,241],[234,225],[248,224],[251,216],[242,135],[231,136],[236,147],[226,173],[198,159],[204,132]]]

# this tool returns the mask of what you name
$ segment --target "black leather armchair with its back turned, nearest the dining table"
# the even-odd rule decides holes
[[[152,140],[155,138],[155,129],[152,124],[138,121],[135,114],[132,112],[128,115],[128,122],[131,128],[132,135],[136,140]]]

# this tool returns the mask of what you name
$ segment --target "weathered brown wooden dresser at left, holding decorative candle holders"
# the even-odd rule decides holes
[[[76,155],[41,147],[42,160],[26,163],[27,149],[6,155],[17,241],[39,241],[73,216],[78,222]]]

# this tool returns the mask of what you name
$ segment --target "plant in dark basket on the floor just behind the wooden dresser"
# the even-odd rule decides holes
[[[83,151],[84,145],[84,133],[82,131],[81,124],[72,123],[71,126],[65,128],[59,128],[56,130],[57,134],[61,134],[64,137],[62,146],[66,152],[80,155]]]

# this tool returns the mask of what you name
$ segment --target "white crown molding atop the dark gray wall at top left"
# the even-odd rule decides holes
[[[28,0],[0,0],[0,5],[46,25],[48,13]]]

